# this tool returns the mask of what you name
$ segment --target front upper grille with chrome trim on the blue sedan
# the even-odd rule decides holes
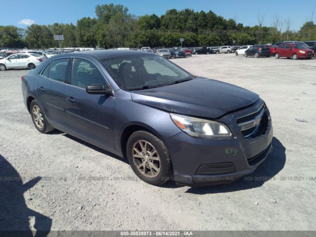
[[[240,127],[241,134],[246,139],[266,134],[269,126],[269,118],[265,106],[263,105],[260,110],[252,114],[237,118],[237,124]]]

